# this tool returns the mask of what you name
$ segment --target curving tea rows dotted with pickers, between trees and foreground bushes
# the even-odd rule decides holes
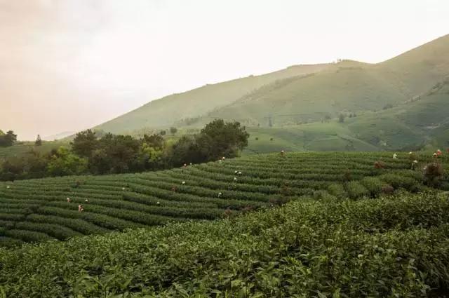
[[[380,160],[384,168],[376,169]],[[394,159],[390,153],[288,153],[160,172],[2,182],[0,245],[216,219],[327,191],[371,196],[385,183],[415,191],[421,172],[409,169],[408,154]]]

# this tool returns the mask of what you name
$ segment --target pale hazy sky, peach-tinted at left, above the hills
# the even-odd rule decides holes
[[[0,0],[0,129],[34,139],[164,95],[449,33],[448,0]]]

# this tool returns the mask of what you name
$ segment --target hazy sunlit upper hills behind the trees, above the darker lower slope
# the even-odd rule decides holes
[[[279,127],[320,121],[342,111],[377,111],[425,95],[443,81],[449,75],[448,53],[446,35],[374,65],[343,60],[289,67],[170,95],[97,128],[129,133],[171,125],[199,127],[211,118]]]

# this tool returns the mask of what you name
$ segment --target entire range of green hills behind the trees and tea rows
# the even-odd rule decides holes
[[[341,60],[296,65],[206,85],[154,100],[96,128],[112,133],[173,125],[198,128],[213,118],[225,118],[274,140],[267,146],[250,142],[250,149],[259,151],[284,147],[300,151],[403,149],[429,142],[445,145],[449,135],[448,81],[446,35],[377,64]],[[338,123],[342,114],[351,119]],[[279,128],[313,133],[304,140],[304,134],[295,133],[292,139],[279,135]],[[330,140],[336,137],[335,144],[340,145],[329,146],[329,136],[333,136]]]

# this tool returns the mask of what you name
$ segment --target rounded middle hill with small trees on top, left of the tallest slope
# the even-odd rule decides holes
[[[314,76],[297,78],[286,86],[247,100],[239,100],[208,116],[236,118],[268,125],[319,121],[340,111],[382,109],[384,105],[403,102],[408,96],[366,65],[343,67]]]

